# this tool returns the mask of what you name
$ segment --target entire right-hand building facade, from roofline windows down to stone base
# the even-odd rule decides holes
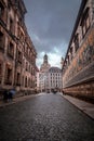
[[[63,90],[94,98],[94,0],[82,0],[63,63]]]

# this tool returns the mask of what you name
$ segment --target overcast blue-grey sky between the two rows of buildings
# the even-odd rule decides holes
[[[37,66],[46,53],[51,66],[61,67],[76,23],[81,0],[24,0],[25,23],[37,50]]]

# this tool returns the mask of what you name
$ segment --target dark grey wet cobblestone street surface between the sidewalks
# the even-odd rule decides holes
[[[94,141],[94,120],[48,93],[1,107],[0,141]]]

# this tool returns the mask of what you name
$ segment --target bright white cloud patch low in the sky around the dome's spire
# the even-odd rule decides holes
[[[52,50],[42,50],[42,52],[38,53],[37,65],[40,66],[40,64],[43,63],[43,56],[48,52],[51,66],[61,67],[61,59],[66,54],[66,46],[67,44],[63,42],[62,44],[54,46]]]

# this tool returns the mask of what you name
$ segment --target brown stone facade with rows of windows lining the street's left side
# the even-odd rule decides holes
[[[25,25],[23,0],[0,0],[0,91],[33,91],[37,52]]]

